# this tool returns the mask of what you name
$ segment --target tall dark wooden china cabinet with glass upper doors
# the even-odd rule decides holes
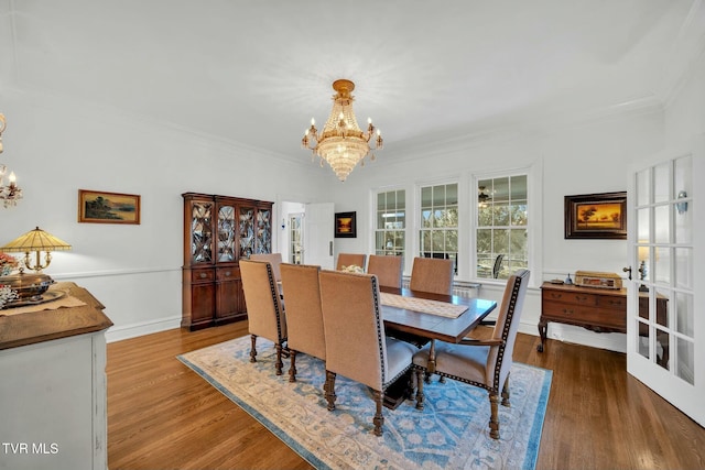
[[[239,260],[272,251],[273,203],[184,193],[182,327],[247,318]]]

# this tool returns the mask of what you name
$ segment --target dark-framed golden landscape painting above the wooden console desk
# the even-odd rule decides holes
[[[627,239],[627,193],[565,196],[566,239]]]

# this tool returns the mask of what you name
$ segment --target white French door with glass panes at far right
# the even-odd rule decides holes
[[[633,271],[627,370],[701,425],[705,425],[704,175],[701,143],[694,153],[634,168],[628,197]]]

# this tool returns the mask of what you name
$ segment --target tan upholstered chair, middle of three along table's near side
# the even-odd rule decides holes
[[[282,289],[286,292],[286,329],[291,367],[289,381],[296,382],[296,354],[326,360],[321,309],[319,266],[282,263]]]

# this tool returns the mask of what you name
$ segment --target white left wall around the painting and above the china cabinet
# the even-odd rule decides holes
[[[276,201],[322,177],[315,166],[187,129],[3,91],[2,162],[17,173],[24,200],[0,208],[0,243],[35,226],[70,243],[73,250],[54,253],[45,272],[76,282],[105,304],[115,323],[110,340],[180,325],[183,193]],[[303,185],[308,200],[323,194],[318,186]],[[79,188],[141,195],[141,223],[78,223]],[[278,230],[273,237],[276,244]]]

